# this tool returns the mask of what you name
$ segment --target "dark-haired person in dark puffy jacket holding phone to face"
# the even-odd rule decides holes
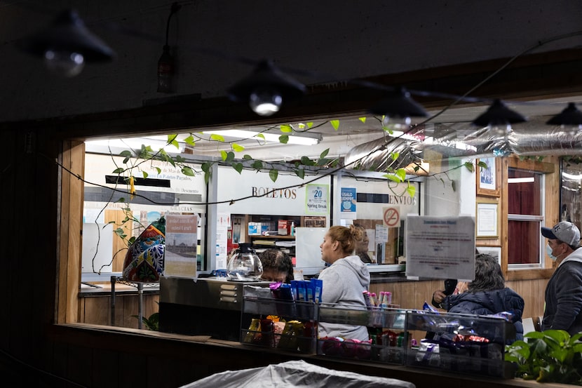
[[[475,256],[475,279],[468,284],[466,292],[445,295],[440,290],[433,294],[435,302],[447,312],[460,314],[491,315],[500,312],[513,314],[516,339],[523,339],[523,298],[505,286],[501,266],[492,255],[480,253]]]

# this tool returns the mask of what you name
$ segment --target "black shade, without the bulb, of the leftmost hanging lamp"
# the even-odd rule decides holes
[[[20,48],[43,57],[47,50],[80,53],[86,62],[104,62],[115,58],[115,52],[90,32],[75,11],[62,12],[52,25],[29,36]]]

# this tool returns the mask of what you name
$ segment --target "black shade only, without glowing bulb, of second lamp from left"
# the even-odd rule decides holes
[[[271,61],[264,60],[257,65],[250,76],[235,83],[227,91],[229,98],[237,102],[248,102],[251,93],[257,88],[278,91],[283,100],[301,97],[306,87],[280,71]]]

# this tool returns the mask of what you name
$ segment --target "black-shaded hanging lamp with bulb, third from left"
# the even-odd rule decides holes
[[[393,91],[386,93],[386,96],[372,107],[369,112],[382,115],[382,126],[390,129],[407,129],[412,122],[412,117],[428,116],[426,110],[410,97],[410,92],[401,87],[394,88]]]

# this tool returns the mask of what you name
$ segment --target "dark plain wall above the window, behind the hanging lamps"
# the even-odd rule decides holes
[[[493,1],[181,1],[170,28],[177,60],[177,95],[225,95],[251,67],[201,53],[252,60],[337,81],[508,58],[540,41],[580,29],[582,2]],[[35,4],[41,4],[35,6]],[[156,92],[156,65],[164,44],[170,1],[14,1],[1,3],[0,121],[106,112],[140,107]],[[118,53],[115,62],[89,65],[74,79],[50,76],[40,61],[15,49],[18,39],[76,8],[88,27]],[[54,12],[53,12],[54,11]],[[114,23],[133,36],[106,27]],[[539,51],[576,47],[581,37]]]

